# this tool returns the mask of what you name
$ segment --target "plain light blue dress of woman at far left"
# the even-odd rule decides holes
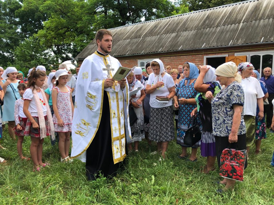
[[[2,80],[2,83],[4,84],[6,81],[7,80]],[[17,80],[17,83],[11,83],[7,86],[6,93],[4,96],[5,100],[4,100],[3,117],[2,117],[3,121],[14,121],[14,104],[17,99],[21,98],[17,89],[19,82],[20,80]]]

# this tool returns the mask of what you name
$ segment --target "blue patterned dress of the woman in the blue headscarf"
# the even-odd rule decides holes
[[[196,97],[198,92],[194,90],[195,81],[188,86],[185,85],[184,81],[180,81],[176,89],[176,96],[178,96],[178,99],[180,98],[191,99]],[[182,147],[191,147],[189,145],[184,144],[184,136],[185,136],[186,130],[188,130],[188,123],[191,119],[190,113],[196,107],[197,105],[194,105],[194,104],[179,104],[177,144],[181,145]],[[199,126],[201,126],[201,120],[199,116],[197,116],[196,122]],[[201,146],[201,141],[193,145],[192,148],[197,148],[200,146]]]

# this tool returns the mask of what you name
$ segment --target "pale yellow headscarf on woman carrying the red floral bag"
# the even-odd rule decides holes
[[[234,62],[226,62],[216,68],[215,75],[224,77],[234,77],[234,79],[241,83],[242,77],[238,74],[238,67]]]

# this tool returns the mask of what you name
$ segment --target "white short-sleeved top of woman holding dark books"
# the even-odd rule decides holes
[[[155,75],[153,73],[151,73],[148,77],[148,85],[151,85],[151,87],[153,86],[154,78],[155,78]],[[168,88],[174,87],[173,78],[168,73],[165,73],[162,79],[165,84],[164,87],[157,88],[150,94],[149,104],[151,107],[161,108],[161,107],[167,107],[172,105],[172,99],[170,99],[168,103],[158,103],[156,101],[156,96],[168,96],[169,95]]]

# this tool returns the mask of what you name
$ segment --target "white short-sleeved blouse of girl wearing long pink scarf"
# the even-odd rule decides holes
[[[43,115],[46,116],[47,115],[47,107],[46,107],[46,103],[44,102],[43,99],[43,95],[41,92],[37,92],[39,99],[40,99],[40,103],[42,106],[42,110],[43,110]],[[23,99],[24,100],[30,100],[29,102],[29,112],[31,113],[32,117],[38,117],[38,113],[37,113],[37,105],[34,99],[34,94],[32,92],[31,88],[28,88],[24,95],[23,95]]]

